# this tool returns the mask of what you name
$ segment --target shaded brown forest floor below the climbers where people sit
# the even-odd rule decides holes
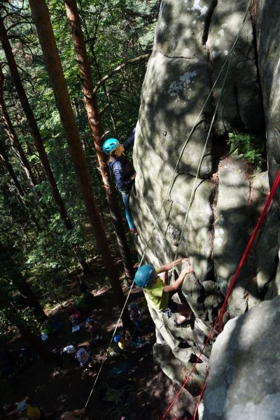
[[[120,266],[120,261],[116,262]],[[93,269],[93,267],[90,268]],[[86,281],[90,286],[90,293],[94,295],[92,315],[102,324],[104,343],[91,350],[92,370],[83,370],[78,366],[73,354],[64,354],[61,366],[57,363],[44,363],[43,360],[36,358],[25,370],[6,380],[6,389],[12,395],[14,403],[29,395],[31,405],[41,407],[44,412],[56,410],[55,419],[59,419],[59,415],[64,411],[85,407],[89,397],[86,414],[90,420],[120,420],[122,416],[125,416],[127,420],[161,419],[180,386],[172,382],[153,362],[155,325],[148,312],[144,294],[141,290],[133,288],[129,299],[129,302],[135,302],[137,306],[144,308],[144,316],[139,324],[141,327],[139,337],[142,344],[130,347],[127,358],[123,356],[106,358],[106,350],[116,328],[119,311],[113,304],[114,297],[111,288],[98,286],[102,284],[102,279],[98,282],[96,276],[98,276],[98,269],[94,270],[93,281],[90,275],[87,276]],[[79,294],[77,280],[77,276],[68,279],[69,296],[73,297],[75,290]],[[123,284],[123,290],[127,295],[129,289],[125,284]],[[85,325],[79,335],[72,334],[67,321],[71,306],[73,306],[73,300],[65,300],[63,306],[57,305],[48,313],[49,316],[55,317],[62,323],[62,328],[57,332],[56,337],[50,336],[45,341],[45,346],[51,350],[63,348],[69,343],[74,346],[88,346],[90,343],[90,332]],[[14,346],[24,345],[20,339],[13,344]],[[102,370],[94,386],[97,372],[103,362]],[[5,412],[14,409],[14,403],[5,407]],[[186,410],[193,412],[194,409],[195,400],[183,390],[165,419],[185,419]],[[6,414],[2,415],[3,418],[8,419]],[[15,420],[19,417],[16,414],[9,418]]]

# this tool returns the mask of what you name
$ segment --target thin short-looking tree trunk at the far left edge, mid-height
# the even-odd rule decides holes
[[[20,145],[20,141],[18,140],[18,136],[15,132],[15,129],[13,127],[13,124],[10,120],[10,116],[8,115],[8,111],[6,108],[6,104],[3,98],[3,82],[4,82],[4,76],[3,72],[0,66],[0,111],[1,111],[1,117],[3,118],[4,125],[6,126],[6,132],[8,134],[8,137],[10,138],[10,141],[12,142],[15,149],[18,151],[18,155],[20,156],[20,160],[22,162],[22,166],[25,169],[25,173],[27,174],[27,178],[29,179],[29,182],[32,187],[36,185],[36,180],[34,177],[33,172],[31,171],[31,167],[29,165],[29,162],[27,160],[27,157],[25,156],[25,152],[22,150],[22,146]]]

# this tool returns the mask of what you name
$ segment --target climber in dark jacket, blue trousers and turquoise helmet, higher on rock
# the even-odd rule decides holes
[[[134,144],[134,136],[136,127],[129,137],[121,144],[117,139],[108,139],[104,142],[102,149],[106,155],[109,155],[108,165],[111,175],[116,183],[117,189],[123,197],[125,204],[125,217],[130,227],[130,232],[137,233],[132,213],[130,211],[130,190],[134,183],[136,172],[130,163],[130,160],[125,155],[125,152]]]

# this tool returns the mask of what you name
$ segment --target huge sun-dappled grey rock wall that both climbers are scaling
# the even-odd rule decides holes
[[[223,304],[280,164],[279,55],[274,41],[279,31],[269,32],[269,19],[279,29],[280,4],[258,0],[257,15],[252,7],[245,17],[247,4],[162,0],[141,92],[131,195],[137,251],[144,263],[155,266],[189,256],[195,270],[174,297],[193,309],[191,328],[176,328],[174,315],[168,319],[149,307],[158,332],[155,360],[180,384]],[[228,63],[224,80],[226,67],[222,69]],[[229,153],[226,139],[229,132],[260,137],[265,131],[269,172],[254,172],[241,156]],[[229,317],[279,294],[278,203],[269,209],[237,278]],[[175,267],[172,281],[180,270]],[[203,384],[210,352],[211,341],[189,385],[193,395]]]

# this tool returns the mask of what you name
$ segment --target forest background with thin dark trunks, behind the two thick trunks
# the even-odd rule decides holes
[[[64,110],[57,109],[55,88],[50,83],[31,17],[30,6],[36,9],[38,3],[45,1],[35,3],[25,0],[0,3],[0,331],[5,343],[20,332],[41,356],[48,358],[38,331],[45,321],[45,311],[64,300],[65,279],[73,273],[83,274],[87,270],[85,262],[91,267],[95,263],[102,265],[100,261],[110,262],[109,253],[119,255],[122,246],[125,273],[132,277],[136,261],[136,255],[130,252],[132,240],[125,223],[122,235],[121,221],[115,221],[115,225],[111,222],[105,190],[110,195],[113,187],[104,187],[102,183],[104,174],[101,176],[102,165],[94,142],[98,148],[98,141],[104,138],[123,141],[137,123],[141,84],[151,54],[160,1],[46,2],[78,127],[80,148],[75,153],[73,146],[72,154],[69,134],[67,137],[63,125]],[[100,130],[99,134],[92,133],[88,123],[84,80],[66,16],[67,3],[78,6],[99,109],[99,123],[95,125],[102,125],[102,135]],[[47,31],[44,36],[48,44]],[[55,66],[57,59],[52,59]],[[101,236],[92,226],[94,217],[99,216],[89,216],[89,204],[80,188],[79,164],[73,165],[81,151],[85,155],[85,172],[90,174],[96,211],[102,214]],[[117,200],[120,202],[119,197]],[[118,241],[113,235],[116,225],[120,230]],[[108,242],[105,251],[104,238]],[[123,241],[128,241],[128,246]],[[123,295],[118,274],[111,279],[110,268],[107,272],[102,268],[100,278],[103,285],[111,282],[121,307]],[[123,315],[125,319],[130,328],[127,314]]]

